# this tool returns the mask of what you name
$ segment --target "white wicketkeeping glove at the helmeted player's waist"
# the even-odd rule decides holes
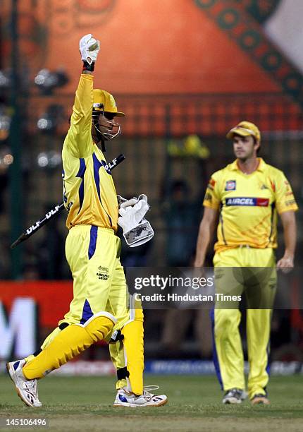
[[[147,196],[142,194],[138,198],[125,200],[118,195],[119,215],[118,224],[123,229],[123,236],[130,248],[135,248],[151,240],[154,230],[145,215],[149,210]]]

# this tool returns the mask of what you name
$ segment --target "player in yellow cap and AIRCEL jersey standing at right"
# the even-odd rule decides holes
[[[286,272],[294,265],[297,204],[283,172],[257,157],[261,134],[256,125],[241,121],[227,138],[233,140],[237,159],[211,176],[194,265],[204,265],[218,223],[216,293],[246,294],[248,394],[252,404],[268,404],[268,345],[276,268]],[[283,224],[285,253],[276,264],[277,213]],[[225,392],[223,403],[230,404],[240,403],[247,396],[238,304],[235,301],[228,308],[218,299],[212,313],[214,362]]]

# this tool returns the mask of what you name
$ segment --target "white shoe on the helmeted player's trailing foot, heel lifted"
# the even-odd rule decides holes
[[[39,408],[42,403],[39,401],[37,380],[27,380],[23,375],[22,368],[25,360],[11,361],[6,364],[6,369],[11,380],[16,385],[16,390],[20,399],[28,406]]]

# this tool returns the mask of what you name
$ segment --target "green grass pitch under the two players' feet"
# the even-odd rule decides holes
[[[251,407],[247,401],[240,406],[223,405],[214,376],[146,376],[145,382],[160,385],[168,404],[113,408],[114,377],[49,376],[39,381],[43,407],[32,409],[23,406],[8,376],[0,376],[0,418],[47,418],[49,428],[44,430],[64,432],[303,431],[302,376],[272,377],[270,407]]]

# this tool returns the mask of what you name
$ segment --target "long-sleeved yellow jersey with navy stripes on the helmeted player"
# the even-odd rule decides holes
[[[105,157],[92,140],[92,104],[93,76],[82,74],[62,150],[66,227],[86,224],[116,231],[117,194]]]

